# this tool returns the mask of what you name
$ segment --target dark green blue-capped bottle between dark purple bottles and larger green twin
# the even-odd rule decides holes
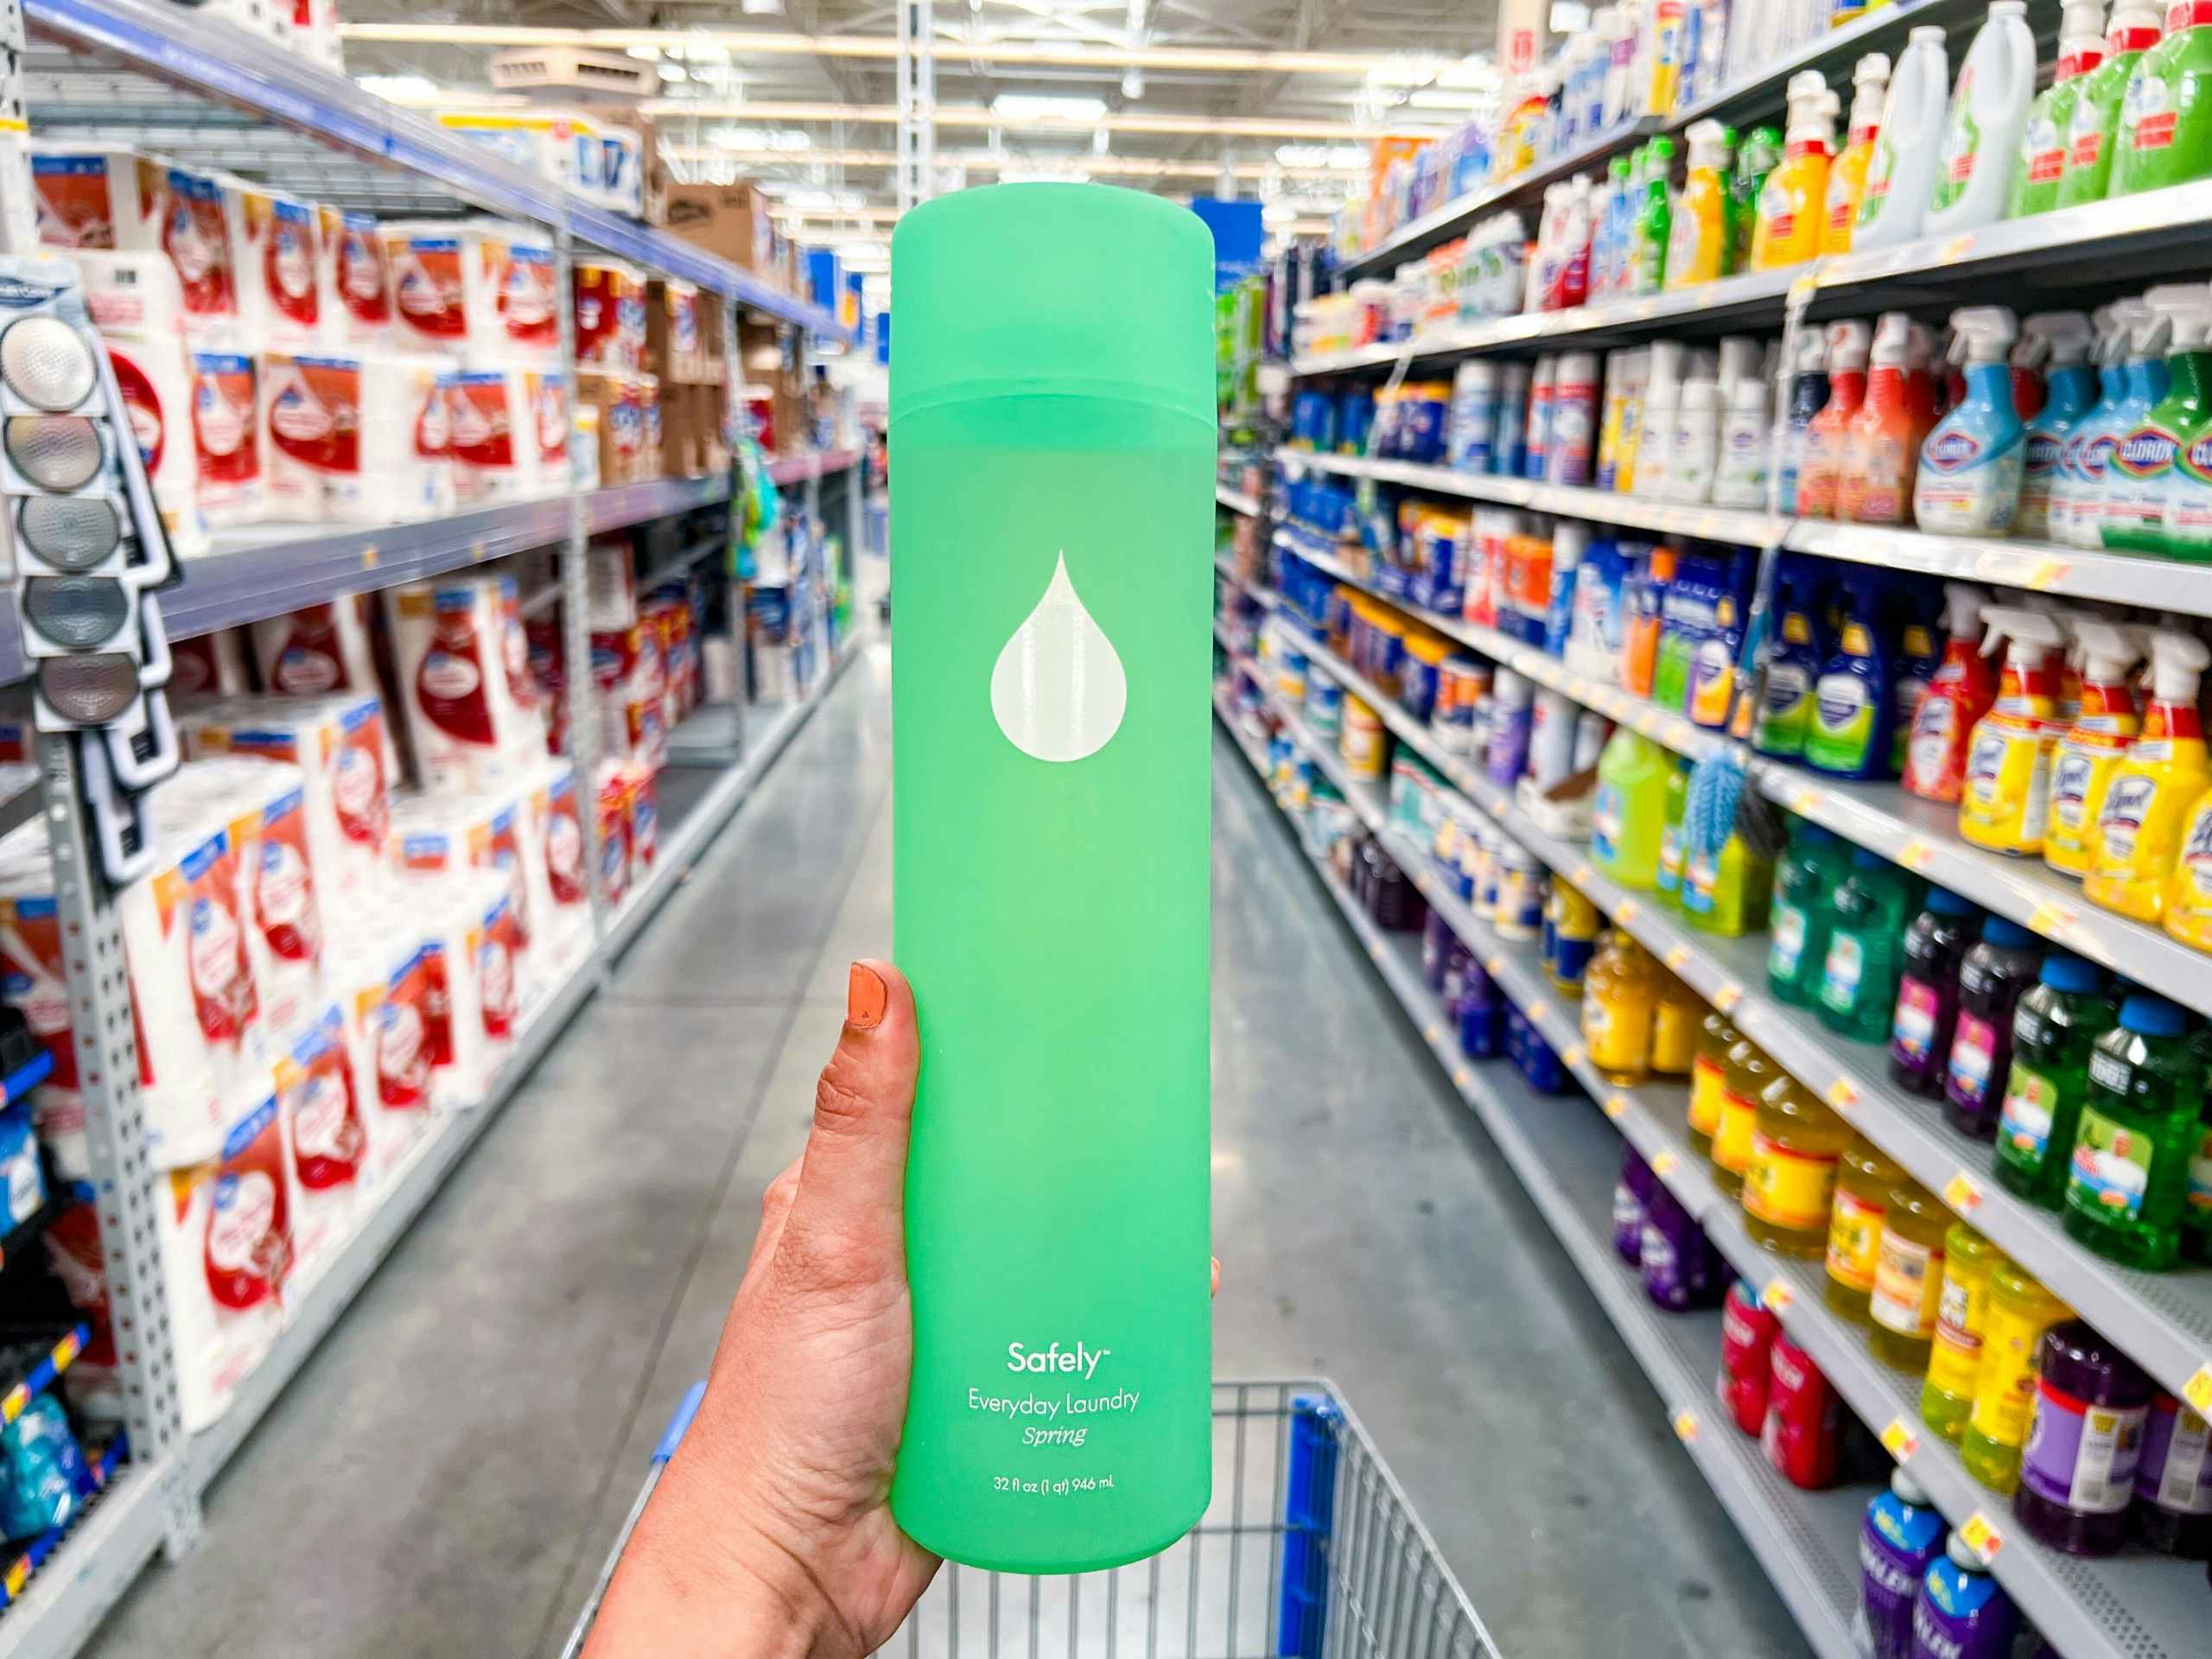
[[[2066,1170],[2088,1097],[2088,1055],[2117,1022],[2104,975],[2053,951],[2013,1009],[2013,1068],[1997,1119],[1997,1186],[2046,1210],[2066,1203]]]

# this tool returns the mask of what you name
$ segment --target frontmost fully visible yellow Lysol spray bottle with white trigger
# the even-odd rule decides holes
[[[2150,706],[2143,730],[2112,768],[2097,814],[2097,854],[2081,894],[2139,922],[2166,916],[2166,894],[2181,856],[2181,830],[2205,790],[2205,732],[2197,717],[2197,681],[2212,653],[2192,633],[2150,635]]]

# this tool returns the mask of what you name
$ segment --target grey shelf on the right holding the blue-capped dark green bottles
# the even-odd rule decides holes
[[[1619,887],[1590,865],[1586,847],[1540,830],[1513,805],[1506,790],[1444,754],[1427,728],[1383,699],[1338,657],[1310,637],[1305,648],[1345,684],[1345,690],[1369,699],[1400,741],[1427,759],[1464,801],[1486,812],[1540,863],[1573,880],[1599,911],[1628,929],[1776,1064],[1818,1091],[1916,1181],[1973,1221],[1991,1243],[2042,1279],[2053,1294],[2093,1318],[2097,1329],[2119,1343],[2161,1387],[2190,1400],[2199,1411],[2212,1409],[2212,1272],[2179,1267],[2146,1274],[2104,1261],[2079,1245],[2055,1214],[1995,1183],[1984,1141],[1953,1130],[1938,1104],[1887,1082],[1885,1048],[1845,1042],[1827,1031],[1818,1015],[1767,995],[1763,936],[1728,940],[1697,933],[1659,900]]]

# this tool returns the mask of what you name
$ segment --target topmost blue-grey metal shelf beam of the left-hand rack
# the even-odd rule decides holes
[[[161,0],[29,0],[24,24],[38,38],[97,53],[352,155],[403,168],[471,206],[562,226],[611,254],[730,294],[748,310],[830,338],[849,338],[821,305],[794,299],[681,237],[597,208],[551,179],[498,159],[482,144],[445,131],[427,115],[400,108],[274,40],[210,18],[199,7]],[[190,111],[179,115],[188,117]]]

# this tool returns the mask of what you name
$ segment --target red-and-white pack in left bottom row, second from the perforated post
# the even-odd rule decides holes
[[[345,1015],[334,1000],[310,1009],[274,1066],[276,1115],[285,1146],[285,1206],[292,1217],[292,1267],[283,1303],[296,1312],[345,1248],[361,1210],[361,1170],[369,1130],[354,1093]]]

